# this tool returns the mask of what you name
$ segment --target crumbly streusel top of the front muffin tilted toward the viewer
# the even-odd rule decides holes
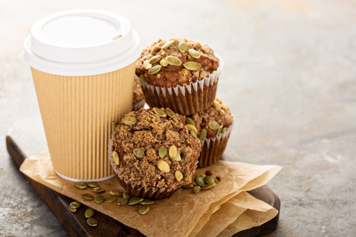
[[[113,137],[120,175],[146,189],[164,191],[190,184],[201,146],[184,121],[184,115],[163,108],[126,114]]]

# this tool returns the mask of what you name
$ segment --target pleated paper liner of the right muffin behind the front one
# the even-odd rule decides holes
[[[227,140],[230,137],[232,125],[219,136],[205,138],[200,141],[201,152],[199,156],[198,168],[210,166],[221,159],[226,148]]]

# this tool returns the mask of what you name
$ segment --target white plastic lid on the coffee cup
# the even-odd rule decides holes
[[[24,43],[23,57],[42,72],[96,75],[126,67],[141,54],[140,36],[126,17],[78,9],[38,20]]]

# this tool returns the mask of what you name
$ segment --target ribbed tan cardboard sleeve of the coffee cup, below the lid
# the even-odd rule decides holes
[[[53,168],[73,179],[114,174],[107,144],[112,120],[132,109],[136,62],[114,72],[62,76],[31,68]]]

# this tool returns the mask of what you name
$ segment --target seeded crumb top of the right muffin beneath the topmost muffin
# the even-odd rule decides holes
[[[229,107],[227,107],[221,100],[215,98],[213,105],[208,109],[193,114],[191,116],[195,127],[198,131],[199,139],[210,138],[224,133],[226,129],[234,122]],[[189,118],[187,122],[190,121]],[[188,122],[189,123],[189,122]],[[206,132],[201,130],[205,129]],[[206,133],[206,135],[204,135]]]

